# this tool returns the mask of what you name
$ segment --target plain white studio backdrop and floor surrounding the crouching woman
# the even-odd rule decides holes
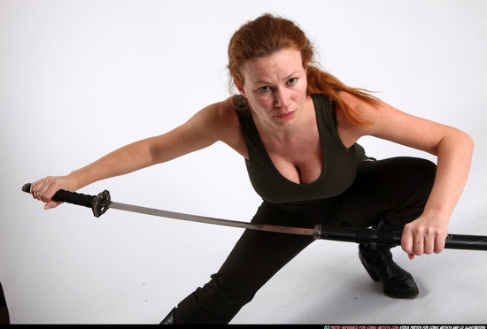
[[[0,281],[12,323],[158,323],[216,272],[241,229],[43,204],[24,183],[163,134],[228,96],[227,46],[264,12],[294,19],[346,84],[475,140],[451,233],[487,234],[487,3],[481,0],[0,0]],[[413,149],[364,139],[367,155]],[[259,197],[226,145],[97,182],[113,201],[249,221]],[[316,241],[233,323],[487,323],[487,253],[409,261],[414,300],[385,297],[353,243]]]

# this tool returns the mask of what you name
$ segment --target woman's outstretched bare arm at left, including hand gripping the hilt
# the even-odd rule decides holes
[[[231,141],[235,130],[232,132],[228,128],[235,125],[228,125],[228,119],[235,121],[228,111],[228,102],[214,103],[166,134],[116,149],[66,176],[37,180],[32,183],[31,193],[35,199],[46,203],[44,209],[57,207],[59,202],[51,198],[59,189],[73,192],[98,180],[135,172],[204,149],[219,140]]]

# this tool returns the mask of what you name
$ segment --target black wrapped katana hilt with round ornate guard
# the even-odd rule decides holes
[[[31,183],[27,183],[22,187],[22,191],[30,193]],[[82,193],[69,192],[64,189],[58,190],[52,196],[52,200],[60,201],[62,203],[71,203],[81,205],[83,207],[91,208],[95,217],[100,217],[108,210],[110,203],[112,203],[110,192],[106,189],[98,195],[83,195]]]

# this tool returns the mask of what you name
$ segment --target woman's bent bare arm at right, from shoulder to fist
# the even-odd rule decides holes
[[[440,253],[448,222],[468,179],[474,142],[459,129],[414,117],[387,103],[374,107],[348,95],[344,101],[360,118],[373,123],[345,124],[339,134],[355,141],[371,135],[437,156],[437,175],[428,202],[421,216],[404,227],[401,247],[411,259],[414,255]]]

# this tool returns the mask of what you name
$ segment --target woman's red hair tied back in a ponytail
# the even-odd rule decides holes
[[[245,63],[259,57],[265,57],[279,50],[296,49],[301,52],[303,67],[307,70],[308,96],[323,94],[330,102],[336,102],[344,115],[353,124],[363,126],[369,122],[360,119],[357,113],[344,103],[338,92],[345,91],[360,100],[375,105],[378,99],[368,94],[367,90],[351,88],[333,75],[325,72],[314,60],[313,44],[306,37],[300,27],[289,19],[264,14],[240,27],[230,39],[228,45],[228,71],[230,84],[243,86],[242,69]],[[247,107],[244,97],[233,97],[237,108]]]

